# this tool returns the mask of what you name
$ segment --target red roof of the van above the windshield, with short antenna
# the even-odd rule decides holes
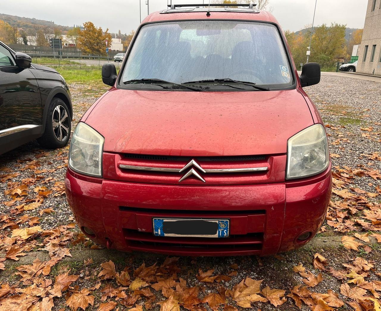
[[[158,21],[176,21],[184,19],[237,19],[243,21],[264,21],[273,22],[278,24],[278,21],[274,16],[263,10],[257,10],[255,8],[210,8],[210,15],[207,16],[208,6],[203,8],[189,8],[179,7],[175,9],[168,9],[163,11],[157,11],[149,14],[142,23],[146,22],[158,22]]]

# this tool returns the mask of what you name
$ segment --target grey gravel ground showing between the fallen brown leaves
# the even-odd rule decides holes
[[[88,109],[93,101],[107,89],[106,86],[99,87],[94,90],[90,85],[72,84],[69,86],[72,92],[74,104],[74,122],[72,128],[80,119],[80,116]],[[330,152],[337,155],[332,157],[333,170],[338,168],[349,167],[369,168],[372,170],[381,171],[381,161],[371,160],[366,155],[373,154],[376,151],[381,151],[381,83],[368,82],[363,80],[343,78],[336,76],[322,76],[322,80],[318,85],[306,88],[307,94],[315,101],[322,118],[327,126],[327,133],[330,140]],[[362,130],[363,129],[370,129]],[[61,150],[46,151],[40,149],[36,142],[28,143],[7,154],[0,156],[0,168],[11,168],[12,171],[20,173],[11,180],[6,180],[0,183],[0,213],[8,215],[14,207],[7,206],[4,203],[10,201],[10,197],[5,195],[9,189],[9,182],[22,183],[26,178],[38,177],[31,189],[37,185],[43,185],[50,189],[57,182],[64,181],[66,171],[68,147]],[[380,152],[381,156],[381,152]],[[33,162],[36,160],[37,162]],[[28,165],[34,164],[35,168],[28,168]],[[36,172],[37,170],[37,172]],[[0,171],[0,175],[3,172]],[[52,178],[52,179],[50,179]],[[376,192],[375,187],[380,186],[379,180],[373,180],[369,176],[355,178],[353,184],[367,192]],[[26,199],[33,199],[33,193],[28,192]],[[339,200],[334,197],[333,200]],[[380,202],[379,199],[370,199],[373,202]],[[15,205],[21,204],[24,201],[16,202]],[[43,213],[40,219],[42,229],[51,229],[60,225],[66,225],[73,222],[73,217],[67,205],[64,195],[47,196],[44,198],[42,206],[35,210],[24,212],[32,216],[40,216],[39,212],[46,208],[52,208],[53,213]],[[22,225],[21,225],[22,227]],[[373,252],[366,254],[356,253],[353,250],[343,248],[341,244],[341,236],[343,234],[333,231],[333,228],[325,224],[326,232],[320,233],[311,243],[281,256],[271,256],[266,258],[256,258],[255,256],[245,257],[226,257],[226,258],[189,258],[182,257],[179,260],[178,266],[181,267],[179,277],[183,277],[187,281],[188,286],[194,286],[198,283],[196,274],[198,269],[203,271],[207,269],[215,269],[215,275],[228,274],[232,271],[230,265],[235,263],[238,265],[237,276],[233,276],[231,281],[225,282],[225,287],[232,287],[239,283],[243,277],[252,277],[259,280],[264,279],[263,284],[269,285],[271,288],[290,290],[293,286],[301,284],[302,277],[293,272],[293,266],[302,262],[303,265],[318,274],[319,270],[315,270],[312,265],[314,253],[319,252],[327,258],[330,268],[335,270],[343,269],[343,263],[349,263],[356,256],[363,256],[367,260],[373,260],[377,263],[380,261],[380,250],[375,249]],[[74,230],[78,230],[75,228]],[[10,235],[11,230],[5,228],[2,234]],[[70,267],[71,273],[87,275],[89,271],[94,270],[99,273],[99,264],[108,260],[113,260],[117,266],[117,271],[125,267],[125,263],[129,263],[132,268],[137,268],[143,261],[146,266],[154,264],[156,261],[161,264],[165,256],[153,254],[126,254],[106,249],[90,250],[88,247],[73,246],[70,249],[72,258],[64,259],[58,264],[57,269]],[[20,257],[17,265],[30,264],[35,256],[41,260],[47,260],[46,253],[32,253],[27,256]],[[45,257],[44,257],[45,256]],[[0,256],[1,257],[1,256]],[[83,260],[93,258],[94,264],[84,267]],[[75,264],[74,264],[75,263]],[[1,282],[17,282],[17,277],[11,277],[13,274],[12,267],[14,261],[6,260],[6,270],[3,271],[3,276],[0,275]],[[9,268],[9,269],[8,269]],[[380,273],[379,266],[376,266],[375,273]],[[94,273],[93,271],[93,273]],[[371,278],[376,278],[372,275]],[[91,287],[96,284],[96,281],[91,278],[80,277],[75,284],[80,288]],[[315,292],[327,293],[327,290],[333,289],[336,293],[340,292],[341,280],[336,279],[328,273],[323,273],[323,281],[313,288]],[[205,284],[205,292],[210,293],[216,290],[215,284]],[[288,292],[289,293],[289,292]],[[342,300],[344,297],[339,296]],[[163,300],[161,295],[157,295],[157,301]],[[96,299],[94,308],[99,306],[99,299]],[[210,309],[207,304],[204,304],[207,309]],[[274,307],[269,303],[256,303],[255,308],[261,310],[298,310],[291,298],[287,298],[287,302],[282,306]],[[64,308],[64,297],[55,302],[53,309]],[[155,307],[159,309],[159,306]],[[91,309],[91,308],[89,308]],[[123,309],[123,306],[122,308]],[[306,305],[302,306],[302,310],[308,310]],[[347,306],[347,309],[351,309]]]

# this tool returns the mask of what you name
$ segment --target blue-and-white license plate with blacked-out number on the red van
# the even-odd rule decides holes
[[[153,218],[154,236],[229,237],[229,219]]]

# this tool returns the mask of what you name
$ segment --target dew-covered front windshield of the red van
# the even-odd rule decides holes
[[[269,88],[293,84],[277,27],[245,21],[148,24],[135,40],[120,82],[161,79],[197,84],[227,78]]]

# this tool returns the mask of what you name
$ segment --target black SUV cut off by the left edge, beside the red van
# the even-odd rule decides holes
[[[72,117],[64,78],[0,42],[0,154],[33,139],[46,148],[66,146]]]

